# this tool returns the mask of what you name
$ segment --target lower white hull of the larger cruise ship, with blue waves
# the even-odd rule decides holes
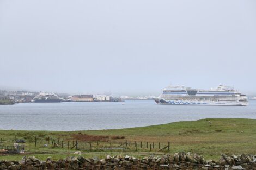
[[[239,102],[239,101],[191,101],[191,100],[164,100],[164,99],[155,99],[157,104],[172,104],[172,105],[224,105],[224,106],[248,106],[248,102]]]

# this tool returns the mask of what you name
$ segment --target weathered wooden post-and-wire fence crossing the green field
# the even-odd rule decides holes
[[[0,148],[4,146],[9,146],[17,141],[17,136],[15,140],[2,140],[0,138]],[[24,140],[25,141],[25,140]],[[13,143],[13,144],[14,144]],[[127,141],[127,140],[111,140],[111,141],[86,141],[80,140],[68,140],[60,139],[53,137],[34,137],[33,140],[29,140],[25,144],[26,147],[33,148],[59,148],[59,149],[68,149],[68,150],[85,150],[87,152],[134,152],[134,151],[144,151],[144,152],[169,152],[170,151],[170,142],[145,142],[145,141]],[[23,150],[25,149],[23,146]],[[12,148],[15,150],[15,146]]]

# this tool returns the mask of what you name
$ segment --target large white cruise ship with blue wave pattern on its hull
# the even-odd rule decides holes
[[[157,104],[247,106],[248,98],[233,87],[219,85],[211,90],[169,86],[155,99]]]

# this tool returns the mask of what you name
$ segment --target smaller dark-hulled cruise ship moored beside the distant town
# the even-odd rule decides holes
[[[35,96],[31,102],[36,103],[53,103],[53,102],[61,102],[62,98],[58,97],[54,93],[45,93],[41,92],[39,95]]]

